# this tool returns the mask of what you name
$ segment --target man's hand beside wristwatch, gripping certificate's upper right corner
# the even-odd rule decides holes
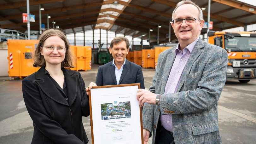
[[[145,102],[155,105],[155,99],[156,99],[156,94],[154,94],[146,89],[138,89],[137,90],[137,100],[139,101],[139,105],[141,107],[144,106]]]

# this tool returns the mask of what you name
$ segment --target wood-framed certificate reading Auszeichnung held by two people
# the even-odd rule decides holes
[[[143,144],[140,84],[96,86],[89,90],[92,144]]]

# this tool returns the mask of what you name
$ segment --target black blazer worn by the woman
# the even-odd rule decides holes
[[[44,67],[22,80],[23,98],[33,120],[32,144],[87,144],[82,116],[90,115],[84,80],[79,72],[62,69],[68,102]]]

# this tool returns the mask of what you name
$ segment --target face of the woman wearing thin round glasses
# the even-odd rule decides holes
[[[48,37],[43,46],[54,46],[54,47],[64,47],[65,42],[58,36]],[[40,47],[41,55],[44,56],[45,59],[45,67],[48,66],[61,66],[61,62],[65,59],[66,50],[63,53],[59,53],[56,48],[52,52],[48,51],[46,47]]]

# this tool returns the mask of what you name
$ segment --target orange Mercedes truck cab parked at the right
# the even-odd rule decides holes
[[[227,79],[248,83],[255,79],[256,33],[255,32],[208,32],[209,43],[228,52]]]

